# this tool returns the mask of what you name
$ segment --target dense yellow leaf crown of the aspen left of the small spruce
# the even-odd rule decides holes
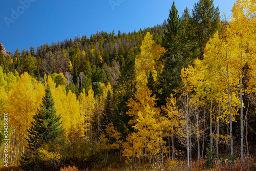
[[[44,85],[36,83],[28,73],[22,74],[6,99],[10,124],[28,128],[44,94]]]

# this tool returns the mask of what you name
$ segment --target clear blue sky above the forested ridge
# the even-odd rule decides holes
[[[31,1],[30,7],[22,8],[20,0],[0,0],[0,42],[9,52],[16,48],[21,52],[30,46],[51,44],[66,38],[87,35],[96,31],[108,33],[154,27],[168,18],[173,0],[111,0],[118,5],[114,8],[110,0],[21,0]],[[118,3],[119,2],[119,3]],[[176,0],[179,15],[187,7],[191,13],[198,0]],[[220,14],[231,15],[234,0],[214,0]],[[19,16],[7,26],[4,18],[12,19],[12,9]]]

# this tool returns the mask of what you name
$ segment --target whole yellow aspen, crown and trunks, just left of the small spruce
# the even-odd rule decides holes
[[[11,134],[11,164],[17,164],[26,145],[27,129],[31,126],[33,115],[37,112],[41,98],[45,94],[44,85],[37,82],[27,72],[22,74],[6,99]]]

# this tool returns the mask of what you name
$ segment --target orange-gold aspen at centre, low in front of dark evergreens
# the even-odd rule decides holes
[[[163,167],[163,154],[167,152],[163,138],[163,125],[160,117],[160,109],[156,108],[155,95],[151,97],[151,91],[145,87],[137,91],[135,100],[130,99],[130,110],[126,113],[133,116],[129,124],[133,125],[135,132],[131,133],[123,143],[123,156],[127,159],[137,157],[139,160],[156,160]],[[131,152],[132,149],[135,153]]]

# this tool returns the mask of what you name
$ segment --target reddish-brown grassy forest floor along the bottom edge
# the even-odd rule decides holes
[[[237,159],[234,161],[234,170],[241,170],[241,171],[256,171],[256,158],[249,158],[249,162],[244,161],[244,163],[241,163],[240,159]],[[214,166],[212,168],[207,167],[204,163],[203,160],[200,160],[200,164],[198,166],[197,161],[192,161],[191,167],[187,167],[187,162],[184,160],[179,160],[179,161],[172,161],[172,160],[166,160],[164,164],[164,168],[161,168],[159,165],[135,165],[135,168],[129,165],[118,167],[118,166],[105,166],[101,167],[98,165],[98,168],[94,169],[77,169],[75,166],[73,167],[65,167],[61,168],[60,171],[96,171],[96,170],[106,170],[106,171],[144,171],[144,170],[165,170],[165,171],[179,171],[179,170],[184,170],[184,171],[223,171],[223,170],[233,170],[233,164],[232,162],[228,161],[227,159],[225,160],[215,160],[214,161]],[[101,167],[101,168],[100,168]],[[11,166],[8,168],[3,168],[0,167],[1,171],[15,171],[15,170],[21,170],[17,166]]]

